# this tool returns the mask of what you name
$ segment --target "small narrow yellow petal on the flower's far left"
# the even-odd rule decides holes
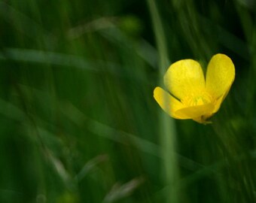
[[[154,89],[154,99],[157,101],[158,105],[163,108],[163,111],[166,111],[171,117],[183,119],[182,117],[177,117],[174,112],[184,108],[184,105],[159,86]]]

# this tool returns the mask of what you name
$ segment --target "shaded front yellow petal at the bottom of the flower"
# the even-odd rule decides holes
[[[203,118],[206,120],[207,117],[212,116],[212,111],[214,110],[215,105],[212,103],[207,105],[191,106],[187,108],[181,108],[178,111],[175,111],[175,115],[178,117],[186,117],[187,119]]]

